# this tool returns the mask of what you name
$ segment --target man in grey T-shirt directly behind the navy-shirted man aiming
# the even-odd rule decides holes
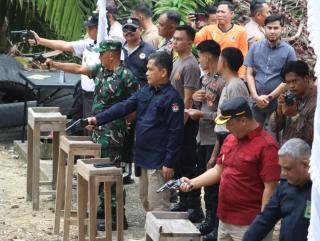
[[[196,58],[191,52],[195,30],[188,25],[179,26],[173,35],[173,50],[178,58],[173,63],[170,76],[171,84],[178,90],[184,100],[185,109],[192,107],[192,95],[200,89],[200,68]],[[181,158],[175,168],[176,177],[187,175],[197,176],[197,122],[190,119],[187,114],[184,118],[184,141]],[[201,209],[200,190],[191,193],[179,193],[180,201],[171,211],[188,211],[192,222],[201,222],[204,215]]]

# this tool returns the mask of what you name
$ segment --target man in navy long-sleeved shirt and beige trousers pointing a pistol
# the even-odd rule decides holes
[[[183,142],[184,104],[171,85],[171,56],[156,52],[147,65],[148,85],[129,99],[89,117],[90,125],[102,125],[136,111],[135,165],[141,167],[140,198],[146,211],[169,210],[170,192],[155,190],[173,177]]]

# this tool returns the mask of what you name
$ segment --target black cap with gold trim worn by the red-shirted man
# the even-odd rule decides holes
[[[252,115],[248,101],[242,96],[224,101],[220,106],[220,111],[220,114],[215,119],[217,125],[223,125],[232,118],[242,115]]]

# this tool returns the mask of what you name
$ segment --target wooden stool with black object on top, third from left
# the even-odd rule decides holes
[[[95,163],[109,162],[108,158],[94,160]],[[116,184],[117,241],[123,241],[123,181],[122,169],[117,167],[94,167],[92,160],[78,163],[78,220],[79,241],[85,240],[84,220],[87,214],[89,195],[89,241],[112,240],[111,185]],[[99,183],[104,183],[105,237],[96,237],[97,197]],[[89,192],[88,192],[89,189]]]

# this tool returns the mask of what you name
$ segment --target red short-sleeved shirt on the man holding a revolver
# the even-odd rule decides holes
[[[264,182],[278,181],[278,144],[261,126],[245,138],[230,134],[217,163],[223,166],[218,217],[234,225],[250,225],[261,210]]]

